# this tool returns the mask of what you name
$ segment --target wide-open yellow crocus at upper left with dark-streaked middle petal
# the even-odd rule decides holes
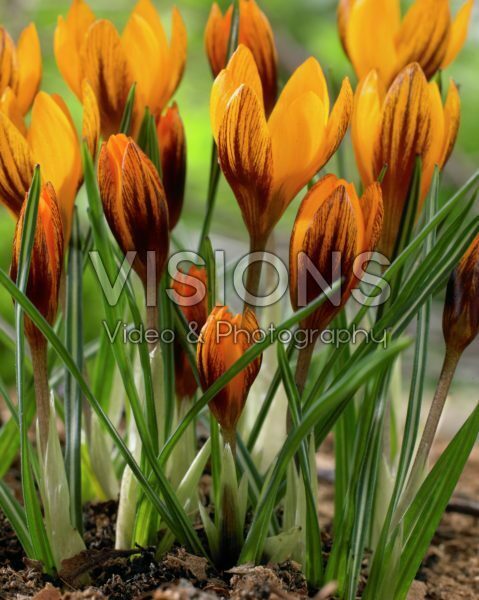
[[[178,87],[186,62],[186,29],[173,9],[168,42],[151,0],[139,0],[120,36],[114,25],[97,19],[83,0],[73,0],[58,18],[54,40],[58,68],[82,99],[87,79],[96,95],[104,137],[117,133],[131,86],[137,83],[134,126],[145,107],[158,118]]]

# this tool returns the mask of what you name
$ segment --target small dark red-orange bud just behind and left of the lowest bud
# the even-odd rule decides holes
[[[206,269],[192,266],[187,273],[178,271],[173,280],[175,301],[198,335],[208,318]],[[175,343],[175,384],[178,398],[192,398],[198,387],[188,357],[181,344]]]

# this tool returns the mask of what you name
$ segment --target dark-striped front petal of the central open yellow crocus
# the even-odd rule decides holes
[[[275,225],[268,215],[272,148],[263,105],[247,86],[228,104],[218,134],[218,156],[250,236],[263,240]]]

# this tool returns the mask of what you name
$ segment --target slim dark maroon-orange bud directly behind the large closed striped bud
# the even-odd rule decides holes
[[[173,230],[180,219],[186,183],[185,129],[176,102],[160,117],[157,132],[170,230]]]

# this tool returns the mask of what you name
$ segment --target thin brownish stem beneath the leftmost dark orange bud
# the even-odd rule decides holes
[[[37,405],[40,452],[45,455],[50,422],[50,392],[48,389],[47,344],[38,340],[30,344],[33,365],[33,381]]]

